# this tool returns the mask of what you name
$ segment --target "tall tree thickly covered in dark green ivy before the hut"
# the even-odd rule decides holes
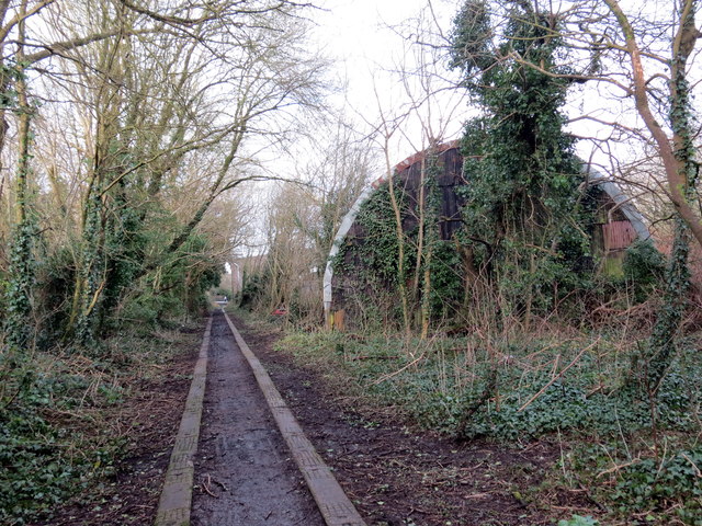
[[[502,35],[469,0],[454,21],[453,66],[483,115],[465,127],[464,239],[509,313],[545,312],[587,283],[592,219],[581,163],[563,127],[569,81],[555,18],[510,2]],[[579,277],[577,274],[581,274]]]

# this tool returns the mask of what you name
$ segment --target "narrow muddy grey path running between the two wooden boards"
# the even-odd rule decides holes
[[[324,521],[222,312],[214,313],[191,524]]]

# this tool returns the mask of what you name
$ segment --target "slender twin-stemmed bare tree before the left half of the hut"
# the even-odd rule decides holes
[[[430,3],[416,18],[392,27],[403,44],[397,64],[386,76],[389,82],[376,79],[374,95],[376,117],[364,119],[372,127],[378,148],[385,158],[384,179],[389,190],[389,201],[397,237],[398,293],[403,310],[403,327],[409,336],[415,311],[421,312],[421,335],[429,330],[431,272],[433,241],[437,225],[428,221],[428,172],[433,149],[454,137],[458,129],[458,115],[465,111],[465,93],[457,88],[457,77],[445,67],[449,39],[443,34],[433,5]],[[386,88],[397,85],[397,89]],[[390,90],[392,93],[386,92]],[[389,102],[388,102],[389,101]],[[401,101],[398,103],[397,101]],[[400,150],[401,148],[401,150]],[[404,152],[404,153],[403,153]],[[410,213],[401,204],[396,188],[395,162],[407,153],[420,153],[421,184],[417,205],[418,235],[409,238],[404,231],[404,218]],[[415,255],[414,268],[407,267],[407,255]]]

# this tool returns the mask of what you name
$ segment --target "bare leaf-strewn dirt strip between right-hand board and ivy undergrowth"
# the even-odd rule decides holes
[[[545,526],[591,504],[578,490],[534,493],[558,458],[553,444],[509,449],[420,432],[356,407],[324,374],[273,350],[280,334],[242,332],[369,525]]]

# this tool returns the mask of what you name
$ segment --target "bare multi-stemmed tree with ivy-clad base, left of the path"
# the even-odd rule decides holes
[[[248,145],[252,138],[259,145],[280,140],[295,130],[303,112],[320,104],[325,64],[304,49],[307,23],[298,13],[307,5],[295,2],[25,7],[20,21],[33,14],[35,26],[50,27],[20,39],[37,49],[21,55],[33,96],[52,110],[60,104],[54,115],[83,123],[63,130],[72,134],[63,147],[49,136],[36,140],[44,151],[61,150],[58,161],[45,157],[37,164],[46,167],[57,202],[73,218],[66,227],[77,231],[65,237],[80,240],[68,329],[89,334],[103,297],[114,295],[115,265],[125,261],[118,239],[129,235],[125,225],[136,228],[154,213],[158,217],[179,185],[197,188],[188,196],[195,206],[181,208],[189,216],[172,225],[170,239],[147,258],[128,258],[141,260],[131,271],[133,282],[169,265],[218,196],[267,178]],[[3,85],[24,85],[22,79],[7,77]],[[61,195],[66,188],[70,201]]]

